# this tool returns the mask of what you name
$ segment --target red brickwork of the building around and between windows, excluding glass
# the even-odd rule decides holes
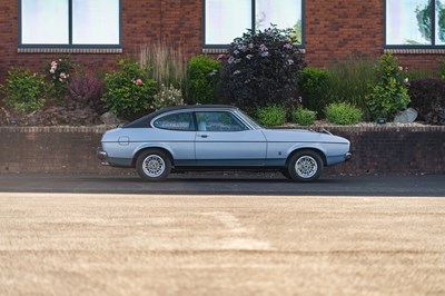
[[[320,67],[349,55],[378,57],[384,51],[384,0],[306,1],[306,59]],[[121,55],[71,55],[93,69],[110,69],[118,58],[138,52],[141,45],[164,41],[181,46],[187,56],[202,51],[202,0],[122,0]],[[53,53],[18,53],[18,0],[0,2],[0,81],[12,66],[38,71]],[[438,69],[445,55],[403,53],[404,66]]]

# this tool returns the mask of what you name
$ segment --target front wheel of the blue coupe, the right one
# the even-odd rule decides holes
[[[290,157],[287,171],[296,181],[316,180],[323,172],[322,157],[313,150],[298,151]]]

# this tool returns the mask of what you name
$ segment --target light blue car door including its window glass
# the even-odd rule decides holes
[[[200,166],[263,166],[266,139],[260,130],[249,128],[235,114],[196,111],[198,131],[195,138]]]

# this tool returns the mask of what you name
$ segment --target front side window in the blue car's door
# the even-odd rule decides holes
[[[196,112],[199,131],[241,131],[247,130],[245,124],[228,111]]]

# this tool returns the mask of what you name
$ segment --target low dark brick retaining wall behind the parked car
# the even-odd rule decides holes
[[[327,174],[445,174],[445,127],[329,127],[352,141],[350,161]],[[105,128],[0,127],[0,174],[121,174],[102,167],[96,148]],[[130,170],[134,171],[134,170]]]

